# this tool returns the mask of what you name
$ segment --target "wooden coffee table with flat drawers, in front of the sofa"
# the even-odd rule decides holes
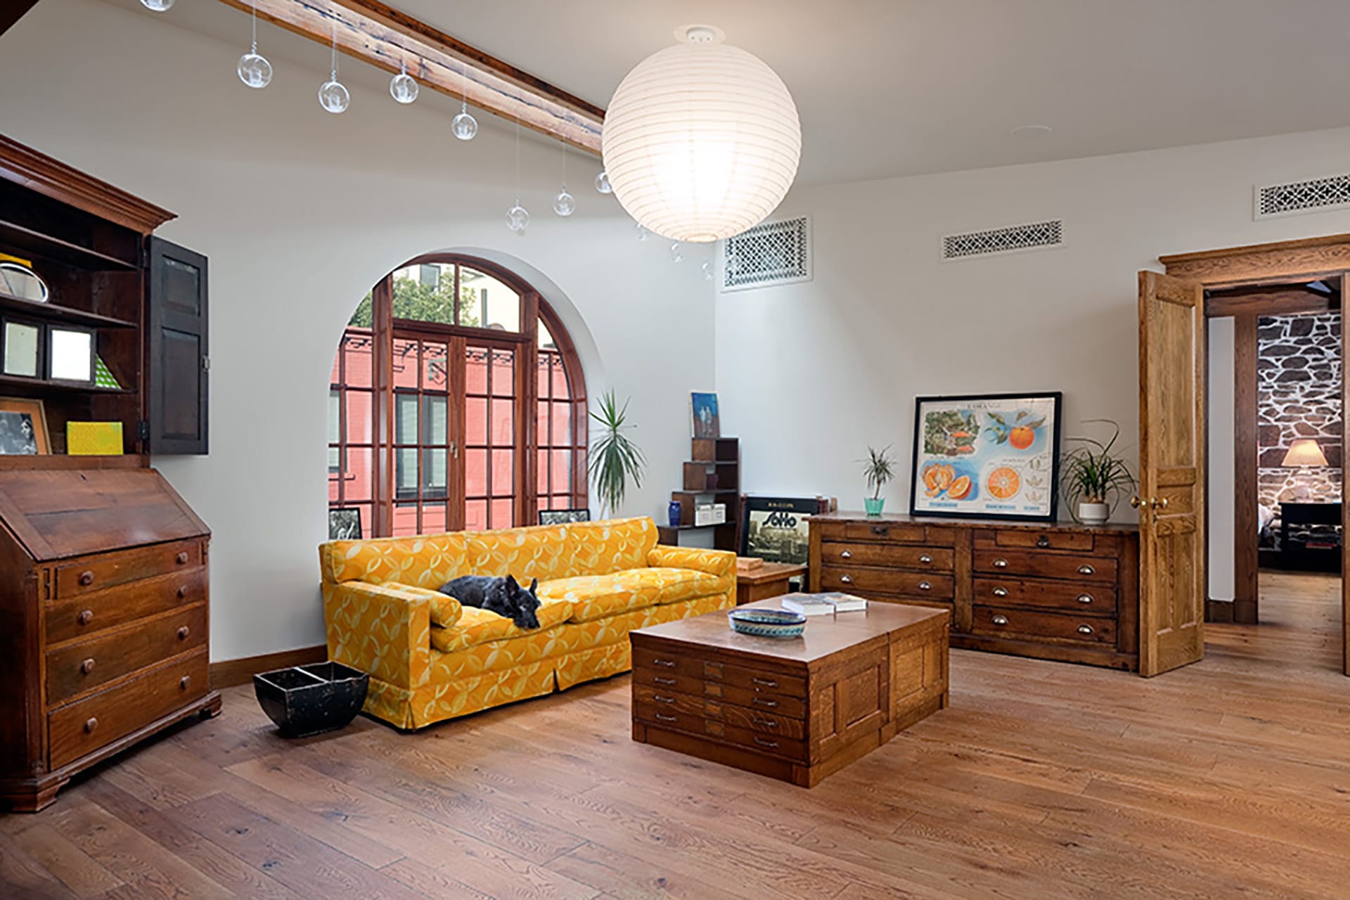
[[[725,611],[632,631],[633,739],[815,787],[946,707],[949,629],[948,610],[872,603],[799,638],[737,634]]]

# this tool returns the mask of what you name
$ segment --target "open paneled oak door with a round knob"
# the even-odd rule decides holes
[[[1204,289],[1139,273],[1139,675],[1204,657]]]

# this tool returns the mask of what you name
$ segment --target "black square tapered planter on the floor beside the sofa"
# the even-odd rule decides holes
[[[346,727],[362,704],[370,676],[342,663],[315,663],[254,676],[254,694],[281,734],[306,738]]]

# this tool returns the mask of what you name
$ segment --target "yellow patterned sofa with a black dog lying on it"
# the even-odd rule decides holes
[[[626,672],[630,629],[736,606],[736,555],[660,546],[651,518],[329,541],[319,568],[328,658],[400,729]],[[539,579],[537,630],[436,592],[508,573]]]

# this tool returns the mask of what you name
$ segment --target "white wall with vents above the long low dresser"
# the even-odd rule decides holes
[[[921,394],[1062,390],[1065,434],[1114,418],[1135,459],[1135,273],[1160,254],[1350,231],[1345,210],[1251,219],[1254,184],[1347,169],[1339,130],[792,192],[775,217],[811,215],[814,281],[717,298],[745,487],[860,509],[856,460],[894,444],[907,466]],[[1050,217],[1061,248],[941,259],[944,235]],[[907,472],[886,497],[909,507]]]

